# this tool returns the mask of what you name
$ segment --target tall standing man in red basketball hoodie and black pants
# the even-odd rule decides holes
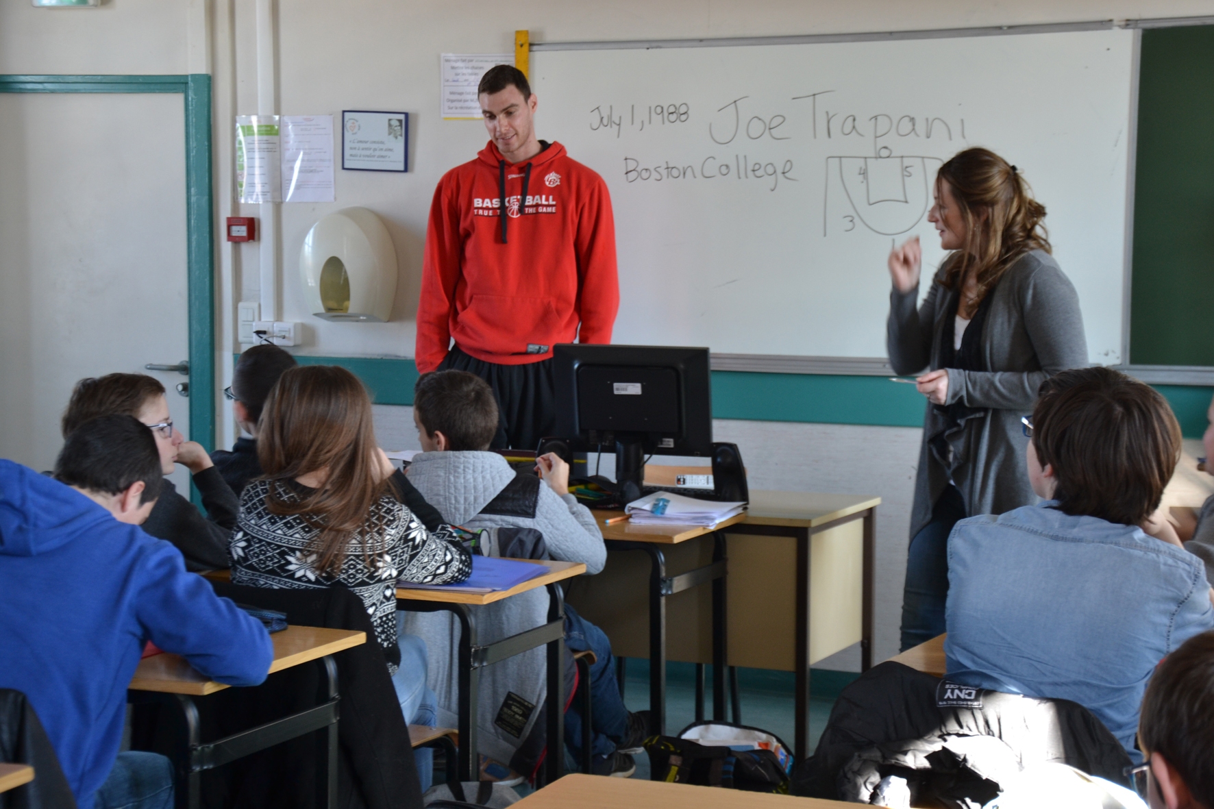
[[[552,346],[611,343],[615,224],[603,179],[535,140],[521,70],[490,68],[477,92],[490,140],[435,191],[416,363],[488,381],[501,414],[493,447],[534,449],[556,426]]]

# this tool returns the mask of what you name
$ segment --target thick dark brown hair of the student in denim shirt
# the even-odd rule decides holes
[[[1054,466],[1063,513],[1139,525],[1176,469],[1180,424],[1150,385],[1111,368],[1063,370],[1038,390],[1033,448]]]

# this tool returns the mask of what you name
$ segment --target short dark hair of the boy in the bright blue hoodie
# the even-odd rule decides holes
[[[143,481],[140,504],[160,497],[164,473],[155,437],[134,415],[101,415],[68,434],[55,479],[90,492],[120,494]]]

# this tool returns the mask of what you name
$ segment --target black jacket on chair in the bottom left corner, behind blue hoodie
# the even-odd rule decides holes
[[[51,740],[21,691],[0,689],[0,762],[29,764],[34,780],[0,793],[0,809],[75,809]]]

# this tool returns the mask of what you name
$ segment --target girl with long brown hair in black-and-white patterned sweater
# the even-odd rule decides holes
[[[396,583],[463,582],[471,554],[449,527],[430,531],[405,505],[412,486],[376,446],[370,400],[345,368],[283,372],[259,428],[263,476],[240,496],[232,583],[348,588],[375,626],[405,722],[433,726],[426,647],[419,638],[398,640]],[[422,788],[430,753],[418,757]]]

